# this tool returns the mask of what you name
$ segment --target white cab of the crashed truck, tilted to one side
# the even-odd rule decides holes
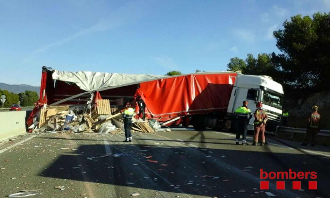
[[[249,101],[248,108],[252,113],[256,110],[255,104],[262,102],[263,109],[268,115],[266,130],[275,132],[276,126],[281,122],[284,96],[282,85],[269,76],[239,74],[236,78],[227,115],[232,115],[238,107],[242,106],[244,100]],[[252,117],[248,123],[248,130],[254,129],[253,121],[254,118]]]

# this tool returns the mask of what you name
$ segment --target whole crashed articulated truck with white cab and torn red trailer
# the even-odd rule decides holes
[[[144,114],[147,119],[164,125],[229,130],[234,119],[232,112],[243,100],[249,100],[252,112],[257,101],[263,102],[269,117],[268,131],[274,131],[281,121],[283,89],[269,76],[243,75],[234,71],[154,76],[66,72],[43,67],[40,99],[27,124],[33,124],[44,104],[84,108],[90,94],[96,91],[102,99],[109,99],[111,109],[129,99],[139,116]],[[145,104],[142,109],[138,105],[141,101]],[[253,119],[248,129],[253,129]]]

